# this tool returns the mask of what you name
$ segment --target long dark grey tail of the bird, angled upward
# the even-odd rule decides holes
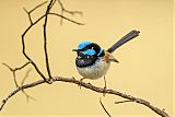
[[[132,38],[139,36],[139,31],[131,31],[128,34],[126,34],[122,38],[120,38],[117,43],[115,43],[110,48],[107,49],[108,52],[115,51],[118,47],[124,45],[125,43],[131,40]]]

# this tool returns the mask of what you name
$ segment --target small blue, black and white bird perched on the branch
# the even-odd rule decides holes
[[[119,62],[113,56],[113,52],[125,43],[137,37],[139,33],[140,32],[136,30],[129,32],[107,50],[90,40],[79,43],[78,47],[72,49],[72,51],[77,51],[75,67],[79,74],[83,77],[81,81],[84,79],[96,80],[104,77],[104,89],[106,89],[105,74],[110,67],[110,62]]]

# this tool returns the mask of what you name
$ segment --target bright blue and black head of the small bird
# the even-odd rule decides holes
[[[96,58],[104,56],[104,49],[102,49],[97,44],[92,42],[81,42],[77,49],[72,49],[77,51],[79,58]]]

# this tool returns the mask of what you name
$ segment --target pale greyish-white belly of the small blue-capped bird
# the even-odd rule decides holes
[[[77,67],[77,69],[82,77],[86,79],[95,80],[105,75],[109,66],[110,66],[110,62],[97,60],[93,66],[84,67],[84,68]]]

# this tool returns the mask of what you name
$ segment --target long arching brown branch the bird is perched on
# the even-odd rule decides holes
[[[61,82],[67,82],[67,83],[72,83],[72,84],[78,84],[78,85],[81,85],[85,89],[92,90],[92,91],[97,92],[97,93],[102,93],[102,94],[106,93],[106,94],[110,94],[110,95],[117,95],[117,96],[124,97],[126,100],[132,101],[135,103],[141,104],[143,106],[147,106],[162,117],[171,117],[164,109],[160,109],[160,108],[153,106],[148,101],[142,100],[142,98],[138,98],[138,97],[135,97],[135,96],[131,96],[131,95],[128,95],[128,94],[125,94],[125,93],[121,93],[121,92],[118,92],[118,91],[115,91],[115,90],[107,90],[107,89],[105,90],[103,87],[92,85],[91,83],[85,83],[85,82],[75,80],[74,78],[63,78],[63,77],[52,78],[52,82],[60,82],[60,81]],[[33,82],[33,83],[28,83],[28,84],[25,84],[23,86],[20,86],[19,89],[15,89],[5,98],[2,100],[2,102],[0,104],[0,110],[2,109],[4,104],[8,102],[8,100],[10,97],[12,97],[14,94],[16,94],[19,91],[21,91],[22,89],[30,89],[30,87],[33,87],[33,86],[36,86],[36,85],[39,85],[39,84],[43,84],[43,83],[46,83],[46,82],[44,80],[38,80],[38,81]]]

